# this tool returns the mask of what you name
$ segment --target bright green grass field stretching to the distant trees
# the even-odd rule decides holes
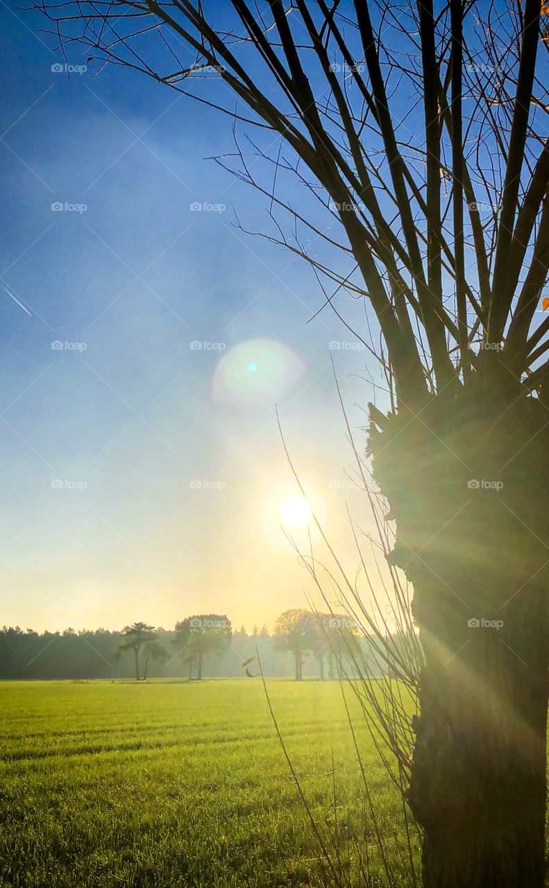
[[[347,836],[364,822],[364,790],[340,687],[267,688],[314,814],[333,827],[337,812],[340,854],[356,868]],[[0,695],[3,886],[317,884],[320,849],[259,679],[4,682]],[[398,870],[398,796],[351,703]],[[366,816],[370,884],[383,885]]]

